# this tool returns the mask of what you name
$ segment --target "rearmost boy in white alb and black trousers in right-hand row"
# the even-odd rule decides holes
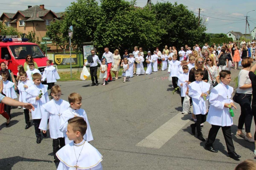
[[[178,83],[180,66],[181,66],[181,62],[177,61],[177,54],[173,54],[172,60],[169,61],[168,73],[170,73],[169,80],[172,80],[172,85],[174,89],[178,87],[177,83]]]

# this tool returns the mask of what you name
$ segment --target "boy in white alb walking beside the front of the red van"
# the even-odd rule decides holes
[[[60,79],[59,74],[54,66],[52,66],[52,60],[46,61],[46,66],[42,75],[42,82],[47,81],[49,89],[52,89],[53,85],[57,80]]]

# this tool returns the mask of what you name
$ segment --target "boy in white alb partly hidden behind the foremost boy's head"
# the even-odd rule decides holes
[[[71,93],[68,96],[70,107],[60,116],[60,131],[65,134],[65,145],[72,142],[68,139],[66,132],[68,126],[68,120],[72,117],[82,117],[87,123],[87,130],[86,134],[84,135],[84,139],[86,141],[93,140],[93,134],[91,133],[90,124],[84,109],[81,108],[82,106],[82,97],[78,93]]]

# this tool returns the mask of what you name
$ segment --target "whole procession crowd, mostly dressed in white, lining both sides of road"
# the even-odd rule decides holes
[[[114,79],[117,80],[118,73],[122,70],[123,82],[130,81],[133,75],[150,75],[160,70],[168,72],[174,91],[181,96],[182,107],[193,105],[192,113],[182,112],[182,114],[191,114],[191,118],[195,121],[190,125],[191,133],[195,135],[197,132],[197,138],[206,141],[201,127],[205,121],[208,121],[212,127],[204,148],[210,152],[218,152],[214,149],[213,143],[218,130],[222,128],[229,157],[239,160],[241,156],[236,153],[231,136],[232,109],[236,109],[233,102],[241,107],[236,135],[244,137],[249,142],[255,142],[256,146],[254,140],[256,131],[254,137],[250,132],[253,117],[256,123],[256,75],[254,74],[256,64],[252,66],[256,48],[254,42],[241,43],[241,45],[241,49],[238,49],[238,46],[231,42],[223,44],[222,47],[219,45],[216,47],[215,44],[209,46],[205,43],[202,49],[196,44],[193,48],[185,45],[185,48],[181,47],[179,51],[174,46],[169,49],[165,46],[162,51],[157,47],[153,54],[151,51],[144,54],[142,48],[134,47],[132,53],[125,50],[122,57],[118,49],[113,54],[106,47],[101,60],[95,54],[95,50],[91,50],[91,55],[87,57],[84,65],[90,65],[91,86],[99,85],[98,63],[100,64],[99,78],[103,80],[102,85],[113,80],[111,71],[115,75]],[[146,71],[143,62],[147,65]],[[238,69],[240,62],[243,68],[239,72],[238,87],[232,98],[233,87],[229,86],[230,70],[231,67]],[[33,58],[28,55],[24,65],[18,66],[18,75],[15,80],[12,71],[6,69],[5,63],[0,64],[2,101],[0,110],[1,115],[6,119],[6,126],[10,124],[10,106],[22,106],[25,129],[31,126],[29,112],[32,114],[37,143],[41,143],[42,135],[46,137],[47,124],[49,124],[50,136],[53,139],[54,162],[58,169],[68,169],[68,167],[102,169],[100,163],[102,155],[88,143],[93,140],[93,135],[86,112],[81,109],[81,95],[72,93],[68,101],[62,100],[60,87],[54,85],[59,79],[56,68],[52,66],[51,60],[47,60],[46,65],[41,74],[35,68],[37,64]],[[47,85],[41,83],[45,80]],[[48,89],[51,89],[50,94],[53,100],[49,99]],[[19,94],[19,102],[10,104],[10,100],[17,98],[16,92]],[[188,100],[184,100],[186,97]],[[7,104],[6,107],[4,103]],[[242,132],[243,125],[245,125],[246,134]],[[88,157],[86,152],[90,152],[91,156]],[[65,156],[67,154],[72,156]],[[254,154],[256,155],[256,151]]]

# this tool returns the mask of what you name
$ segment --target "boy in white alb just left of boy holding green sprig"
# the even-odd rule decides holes
[[[25,71],[22,71],[19,73],[19,79],[20,79],[20,83],[18,84],[18,89],[19,89],[19,101],[23,102],[23,103],[27,103],[27,92],[26,90],[28,89],[28,87],[33,86],[34,83],[30,80],[27,80],[27,73]],[[24,116],[25,116],[25,129],[28,129],[31,125],[30,123],[30,117],[29,117],[29,110],[24,108]]]

